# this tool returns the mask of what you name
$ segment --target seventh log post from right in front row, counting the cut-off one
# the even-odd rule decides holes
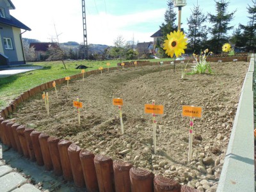
[[[80,161],[79,153],[81,148],[76,144],[72,143],[68,147],[68,157],[71,164],[72,175],[74,183],[77,187],[83,188],[85,186],[83,168]]]

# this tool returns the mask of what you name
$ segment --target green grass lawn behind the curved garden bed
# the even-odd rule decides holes
[[[166,61],[172,60],[170,58],[163,60],[148,60]],[[42,66],[44,68],[39,70],[33,70],[23,74],[17,74],[15,76],[0,78],[0,109],[8,106],[13,99],[19,96],[21,93],[38,86],[42,83],[47,83],[54,79],[60,79],[66,76],[72,76],[79,74],[81,69],[76,69],[78,65],[86,65],[88,70],[95,70],[99,67],[107,68],[106,63],[110,63],[109,67],[116,67],[119,60],[109,61],[65,61],[67,70],[64,69],[61,61],[49,61],[49,62],[35,62],[30,63],[32,66]],[[28,63],[29,64],[29,63]]]

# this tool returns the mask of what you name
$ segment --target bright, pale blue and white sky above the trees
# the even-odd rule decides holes
[[[81,0],[11,0],[15,10],[10,10],[13,17],[26,24],[31,31],[22,37],[40,42],[60,43],[77,42],[83,44],[83,13]],[[251,0],[229,0],[228,13],[237,10],[230,22],[234,28],[238,24],[247,24],[246,7],[252,6]],[[182,28],[188,30],[186,19],[196,0],[187,0],[182,7]],[[214,0],[198,0],[202,12],[215,14]],[[120,35],[125,41],[150,42],[159,26],[164,22],[167,1],[163,0],[85,0],[86,30],[88,44],[113,45]],[[178,18],[178,8],[174,8]],[[178,23],[178,19],[176,20]],[[210,25],[211,26],[211,25]],[[232,30],[229,31],[230,35]]]

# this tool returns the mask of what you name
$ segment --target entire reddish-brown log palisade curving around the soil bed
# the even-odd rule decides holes
[[[237,58],[237,57],[236,57]],[[211,61],[233,61],[234,58],[211,58]],[[248,61],[247,56],[237,58],[238,61]],[[184,62],[188,60],[182,60]],[[209,60],[210,61],[210,60]],[[164,61],[164,64],[170,61]],[[180,61],[176,61],[180,63]],[[141,62],[139,66],[160,65],[160,62]],[[125,67],[134,67],[126,64]],[[115,70],[118,67],[109,68]],[[107,70],[107,68],[104,68]],[[84,77],[91,74],[99,74],[99,70],[92,70],[84,73]],[[70,76],[70,79],[82,78],[83,74]],[[198,191],[188,186],[180,186],[172,179],[154,175],[148,170],[132,167],[132,164],[124,161],[113,161],[106,156],[94,154],[82,149],[67,140],[60,140],[54,136],[48,136],[44,132],[28,129],[24,125],[16,124],[8,120],[17,106],[29,99],[36,93],[52,88],[52,82],[40,84],[22,93],[6,108],[0,111],[0,140],[4,145],[13,147],[19,154],[31,161],[36,161],[45,170],[54,170],[56,175],[63,175],[65,180],[74,180],[77,187],[83,188],[87,185],[88,192],[96,191]],[[56,84],[65,83],[65,78],[56,79]],[[91,175],[92,177],[89,177]],[[120,182],[124,182],[120,184]],[[125,186],[125,188],[124,188]]]

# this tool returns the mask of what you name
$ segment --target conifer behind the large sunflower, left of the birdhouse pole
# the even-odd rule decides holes
[[[168,8],[164,13],[164,22],[160,26],[160,29],[163,34],[163,38],[161,38],[159,44],[163,44],[164,40],[167,39],[167,34],[170,34],[171,32],[175,31],[175,29],[177,29],[177,25],[175,24],[175,20],[177,18],[176,18],[176,13],[174,12],[173,1],[170,1],[170,0],[167,1],[167,6]],[[167,56],[162,46],[159,46],[157,48],[159,48],[159,54],[163,54],[163,56]]]

